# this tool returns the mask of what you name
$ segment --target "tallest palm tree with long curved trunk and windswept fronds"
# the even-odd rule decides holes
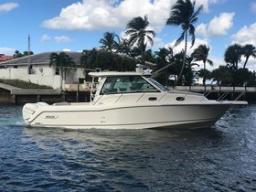
[[[195,11],[195,2],[192,3],[190,0],[177,0],[176,5],[174,5],[171,9],[170,17],[167,19],[166,25],[181,26],[183,29],[181,36],[176,40],[176,45],[180,44],[185,39],[183,64],[176,83],[178,80],[180,80],[185,68],[187,55],[187,35],[191,36],[192,48],[195,43],[195,27],[193,24],[197,22],[197,16],[202,9],[203,5],[200,5]]]

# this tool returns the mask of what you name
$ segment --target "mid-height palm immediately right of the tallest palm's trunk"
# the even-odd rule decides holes
[[[213,66],[213,62],[212,60],[208,59],[208,51],[209,48],[206,45],[200,45],[198,46],[198,48],[195,48],[195,50],[193,51],[193,53],[191,54],[192,58],[194,59],[194,61],[200,61],[202,60],[204,63],[204,70],[201,71],[205,71],[202,74],[207,74],[206,73],[206,63],[208,62],[208,64],[210,66]],[[206,75],[203,75],[203,85],[206,85]]]

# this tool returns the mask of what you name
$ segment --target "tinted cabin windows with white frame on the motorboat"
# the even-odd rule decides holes
[[[162,89],[153,80],[142,75],[106,77],[100,95],[134,92],[160,92]]]

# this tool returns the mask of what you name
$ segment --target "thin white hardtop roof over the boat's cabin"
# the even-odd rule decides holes
[[[113,77],[113,76],[140,76],[140,75],[152,75],[149,72],[117,72],[117,71],[103,71],[103,72],[90,72],[89,75],[91,77],[99,78],[99,77]]]

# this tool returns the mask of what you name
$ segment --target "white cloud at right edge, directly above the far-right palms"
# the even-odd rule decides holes
[[[256,45],[256,23],[251,24],[250,27],[242,27],[236,34],[232,35],[232,43],[239,43],[241,45],[252,44]]]

